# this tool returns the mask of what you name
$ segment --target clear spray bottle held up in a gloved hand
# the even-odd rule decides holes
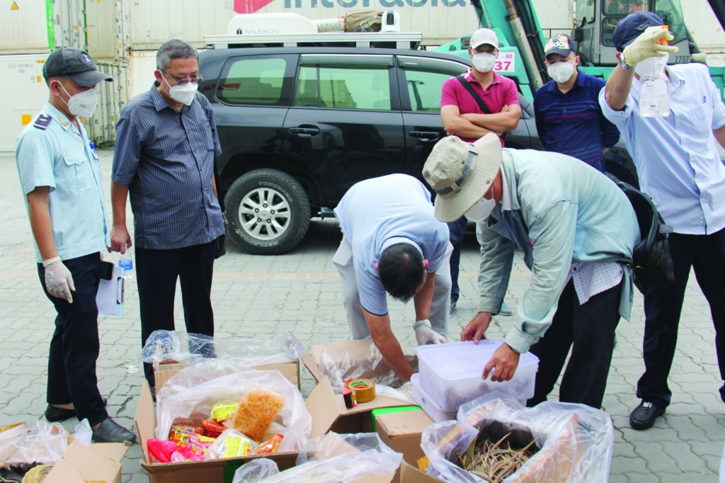
[[[663,25],[667,31],[667,25]],[[658,44],[667,44],[662,38]],[[669,56],[652,57],[640,64],[639,115],[642,117],[667,117],[670,115],[670,80],[665,73]]]

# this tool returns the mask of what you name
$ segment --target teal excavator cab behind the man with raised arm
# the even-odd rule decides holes
[[[679,0],[578,0],[572,38],[582,60],[587,65],[616,65],[614,28],[627,15],[642,11],[655,12],[662,17],[675,37],[669,44],[679,47],[679,51],[670,56],[670,64],[704,60],[704,55],[697,55],[700,49],[687,30]]]

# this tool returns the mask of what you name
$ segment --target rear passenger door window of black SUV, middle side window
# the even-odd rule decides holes
[[[390,110],[389,67],[365,64],[303,65],[299,69],[294,105]]]

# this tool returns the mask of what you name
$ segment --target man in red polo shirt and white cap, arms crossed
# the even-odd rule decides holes
[[[450,136],[458,136],[463,141],[473,142],[496,133],[503,146],[504,133],[513,131],[521,117],[521,106],[518,103],[518,92],[513,80],[494,72],[498,56],[498,37],[489,28],[479,28],[471,36],[471,48],[468,55],[473,68],[463,74],[463,78],[488,107],[490,114],[485,114],[479,102],[473,98],[458,78],[450,78],[443,84],[441,94],[441,118]],[[453,313],[458,302],[458,264],[460,247],[468,220],[460,218],[448,223],[450,241],[453,245],[451,254],[451,307]],[[501,305],[501,315],[511,315],[506,304]]]

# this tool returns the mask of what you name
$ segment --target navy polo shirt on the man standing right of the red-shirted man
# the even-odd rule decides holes
[[[602,151],[617,144],[619,131],[599,105],[605,81],[578,72],[576,84],[566,94],[550,80],[534,95],[539,139],[547,151],[576,157],[604,173]]]

